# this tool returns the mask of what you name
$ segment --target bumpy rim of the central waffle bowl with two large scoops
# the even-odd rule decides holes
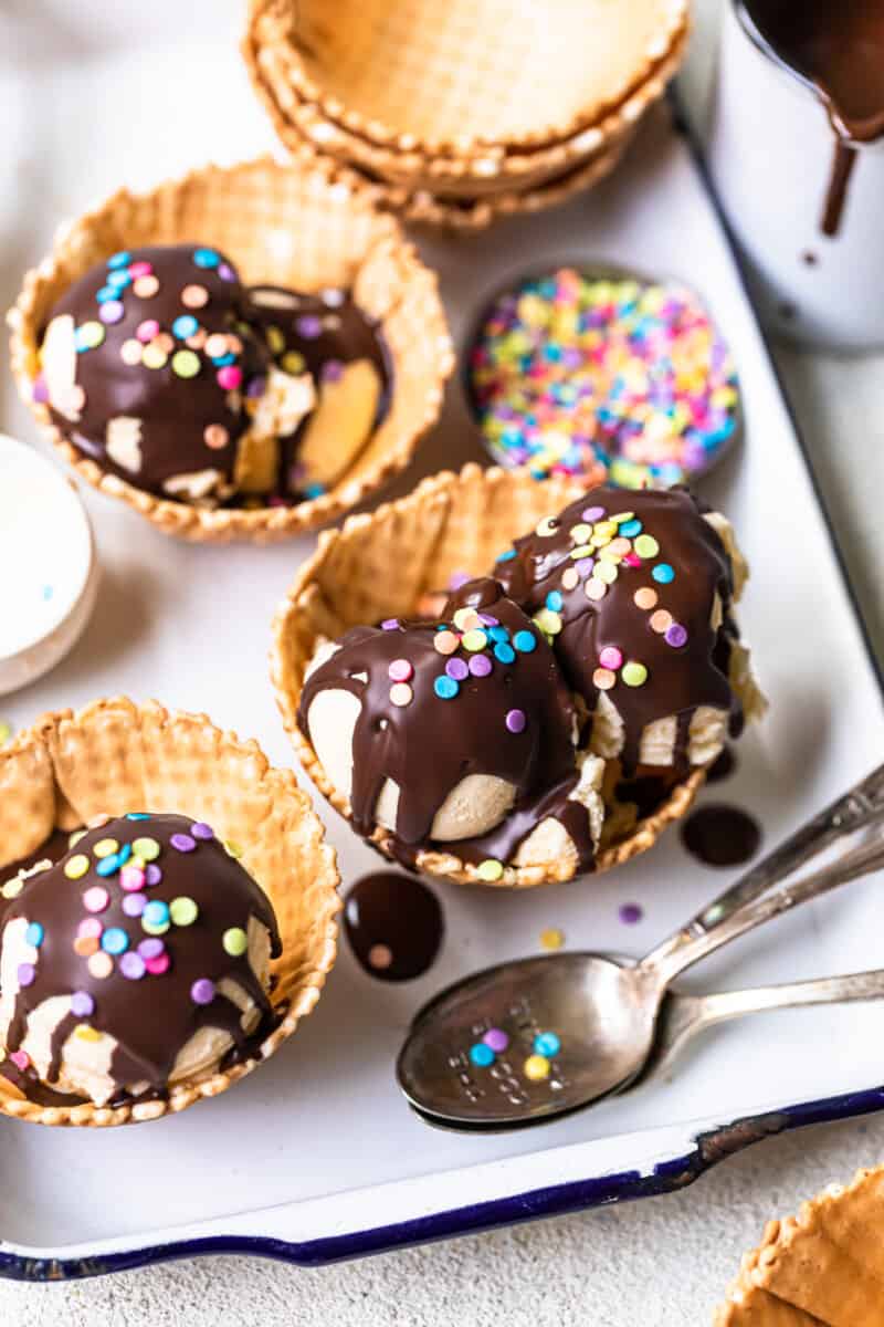
[[[325,564],[330,552],[341,540],[346,541],[351,539],[354,533],[367,532],[372,525],[376,525],[379,522],[388,519],[396,512],[410,511],[416,506],[428,503],[431,499],[444,495],[445,491],[457,484],[473,483],[477,479],[480,482],[488,482],[492,486],[498,483],[526,483],[534,487],[549,486],[550,490],[554,488],[557,491],[559,498],[562,492],[569,488],[571,491],[571,496],[580,491],[578,486],[569,486],[566,483],[559,483],[558,480],[538,482],[525,471],[502,470],[500,467],[482,468],[476,463],[464,466],[459,472],[451,470],[439,471],[439,474],[424,479],[404,498],[384,503],[368,515],[353,516],[338,529],[326,531],[319,539],[317,551],[298,568],[292,585],[286,591],[286,594],[274,614],[270,646],[270,681],[276,693],[282,726],[294,746],[294,751],[301,762],[304,772],[319,790],[326,802],[329,802],[349,823],[351,819],[349,799],[342,798],[333,787],[319,763],[311,742],[301,733],[297,723],[301,685],[292,685],[286,665],[286,641],[292,624],[302,613],[302,597],[314,583],[317,571]],[[313,634],[315,640],[317,633]],[[631,861],[632,857],[637,857],[643,852],[647,852],[648,848],[652,848],[663,829],[675,824],[677,820],[681,820],[687,815],[698,790],[702,787],[704,780],[705,770],[692,770],[685,780],[677,783],[672,788],[667,800],[661,803],[652,816],[639,820],[634,831],[627,837],[600,848],[595,859],[595,869],[587,873],[587,878],[592,878],[592,876],[602,874],[602,872],[623,865],[624,863]],[[351,832],[354,831],[351,829]],[[396,859],[390,852],[390,833],[379,827],[375,828],[374,833],[368,839],[368,843],[378,848],[386,857],[395,861]],[[451,880],[459,885],[476,885],[490,889],[534,889],[542,885],[563,884],[570,880],[582,878],[577,874],[554,874],[547,868],[541,867],[506,867],[501,880],[485,881],[478,877],[476,867],[470,863],[463,863],[456,857],[456,843],[453,843],[451,853],[428,851],[419,852],[416,857],[416,869],[424,874]]]

